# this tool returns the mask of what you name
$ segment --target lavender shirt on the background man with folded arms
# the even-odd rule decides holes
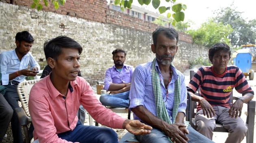
[[[134,67],[131,65],[124,65],[121,71],[118,71],[115,65],[108,68],[104,78],[104,89],[108,90],[111,83],[130,83]]]

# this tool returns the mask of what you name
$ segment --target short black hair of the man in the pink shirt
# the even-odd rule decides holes
[[[43,45],[46,60],[50,57],[57,60],[61,55],[62,48],[76,48],[79,55],[82,53],[82,46],[74,39],[67,36],[58,36],[56,38],[48,39]]]

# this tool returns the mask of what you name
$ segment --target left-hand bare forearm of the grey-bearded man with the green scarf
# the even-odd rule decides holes
[[[167,122],[164,122],[163,120],[157,118],[154,116],[148,109],[143,107],[142,105],[137,106],[135,108],[132,108],[132,112],[136,114],[143,122],[146,124],[158,128],[160,130],[164,130]]]

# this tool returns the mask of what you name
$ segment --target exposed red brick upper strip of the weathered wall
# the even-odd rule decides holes
[[[9,3],[9,0],[0,0],[0,2]],[[33,0],[14,0],[14,4],[21,6],[30,6],[32,2]],[[43,11],[55,12],[95,22],[115,24],[150,33],[158,27],[154,23],[108,8],[106,0],[67,0],[65,5],[60,6],[58,10],[55,10],[52,4],[49,5],[49,7],[43,6]],[[180,40],[192,43],[190,35],[179,32],[179,36]]]

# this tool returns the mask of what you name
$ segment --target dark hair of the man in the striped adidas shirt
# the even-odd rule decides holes
[[[217,43],[217,44],[214,44],[213,46],[211,46],[211,48],[209,49],[209,52],[208,52],[208,57],[211,62],[212,62],[214,54],[216,52],[218,52],[219,50],[224,50],[225,52],[228,52],[229,57],[231,57],[230,47],[225,43]]]

